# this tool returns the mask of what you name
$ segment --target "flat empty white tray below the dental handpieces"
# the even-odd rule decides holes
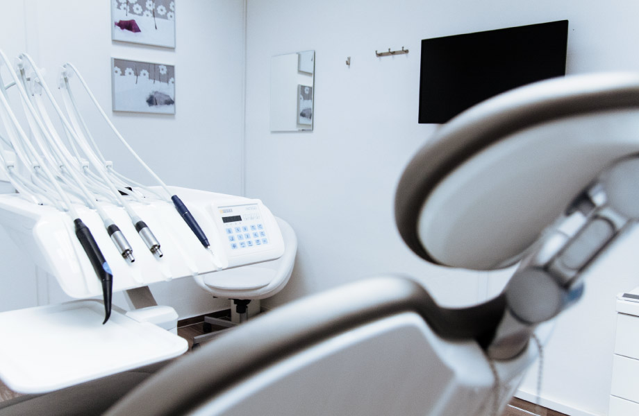
[[[0,313],[0,379],[44,393],[183,354],[185,339],[112,311],[97,300]]]

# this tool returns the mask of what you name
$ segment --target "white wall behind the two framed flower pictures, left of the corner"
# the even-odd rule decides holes
[[[175,49],[111,41],[110,1],[22,0],[3,2],[2,9],[0,48],[10,55],[26,50],[40,67],[48,69],[50,85],[56,85],[58,67],[72,62],[118,130],[167,184],[242,193],[242,0],[178,1]],[[176,114],[113,113],[112,57],[175,65]],[[92,109],[79,85],[75,91],[81,106]],[[115,136],[108,134],[110,130],[97,112],[88,112],[87,119],[115,168],[153,184],[116,143]],[[5,244],[6,236],[1,234],[0,241]],[[3,253],[3,261],[13,260],[5,259]],[[20,271],[12,278],[24,275],[31,279],[31,266],[16,267]],[[4,283],[4,273],[0,278]],[[7,293],[6,287],[3,285],[0,293]],[[57,284],[44,281],[41,287],[47,292],[41,295],[45,302],[65,299]],[[160,304],[174,306],[181,318],[228,307],[197,288],[191,279],[156,284],[151,289]],[[31,306],[31,301],[33,298],[25,297],[21,306]],[[13,306],[0,305],[2,309]]]

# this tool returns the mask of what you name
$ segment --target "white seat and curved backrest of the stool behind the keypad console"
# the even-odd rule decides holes
[[[279,259],[210,273],[195,280],[216,297],[228,299],[265,299],[275,295],[288,283],[297,254],[297,236],[292,227],[277,218],[284,254]]]

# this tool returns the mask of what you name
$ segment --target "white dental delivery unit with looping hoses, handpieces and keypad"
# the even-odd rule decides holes
[[[76,103],[74,83],[82,87],[113,135],[157,186],[131,180],[105,159],[82,114],[85,109],[81,111]],[[119,134],[72,64],[62,67],[58,89],[65,112],[29,55],[19,55],[12,67],[0,51],[0,177],[17,191],[0,195],[0,223],[40,269],[55,277],[67,295],[83,300],[35,308],[29,312],[35,313],[32,319],[44,322],[60,316],[60,331],[67,330],[65,325],[73,320],[110,327],[115,292],[148,291],[149,284],[182,277],[194,277],[204,286],[202,275],[282,256],[285,250],[279,223],[260,200],[168,187]],[[235,229],[242,232],[242,241],[233,238]],[[207,290],[216,294],[214,289]],[[99,304],[86,300],[97,296],[103,303],[99,322]],[[13,320],[14,312],[19,311],[0,314],[0,326],[3,318]],[[128,325],[129,319],[119,313],[115,319],[114,325]],[[105,330],[113,331],[113,327]],[[153,351],[144,352],[145,345],[138,357],[120,357],[121,362],[106,365],[108,368],[94,368],[93,374],[80,372],[60,383],[32,383],[25,379],[24,368],[0,368],[0,376],[14,390],[41,392],[183,353],[183,340],[164,332],[172,337],[165,340],[169,348],[158,350],[156,356]],[[112,336],[122,338],[123,334]],[[81,338],[81,343],[90,345],[90,337]],[[138,359],[140,356],[144,361]]]

